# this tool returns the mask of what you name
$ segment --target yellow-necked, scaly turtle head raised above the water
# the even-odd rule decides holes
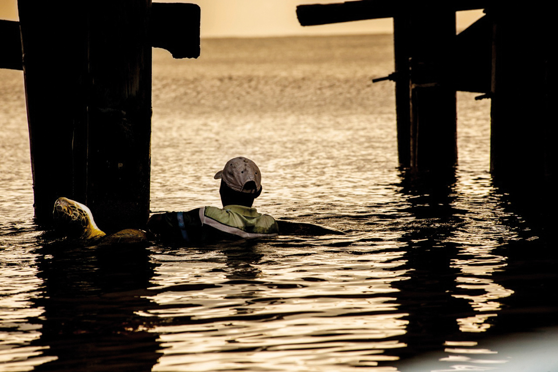
[[[89,208],[67,197],[55,201],[52,218],[55,229],[70,238],[92,239],[105,235],[95,224]]]

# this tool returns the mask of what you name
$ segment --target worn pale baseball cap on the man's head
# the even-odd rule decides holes
[[[229,160],[223,170],[217,172],[213,178],[215,180],[221,178],[230,189],[235,191],[255,194],[262,188],[262,175],[258,166],[242,156]],[[250,181],[256,184],[256,189],[246,187],[246,184]]]

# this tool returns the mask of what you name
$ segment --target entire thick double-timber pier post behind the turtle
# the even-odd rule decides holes
[[[19,0],[36,221],[57,197],[104,230],[145,224],[151,0]]]

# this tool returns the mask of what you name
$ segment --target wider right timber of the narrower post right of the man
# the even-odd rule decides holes
[[[435,2],[432,2],[433,4]],[[410,13],[411,168],[451,170],[457,163],[455,11],[421,6]]]

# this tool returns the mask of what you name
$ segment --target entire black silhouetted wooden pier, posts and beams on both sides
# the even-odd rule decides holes
[[[0,68],[25,74],[35,217],[54,200],[87,204],[104,230],[141,226],[149,211],[151,48],[200,53],[200,9],[150,0],[19,0],[0,21]],[[456,35],[455,12],[485,16]],[[556,29],[548,3],[360,0],[296,9],[303,26],[393,18],[402,168],[451,173],[456,91],[492,100],[490,171],[515,195],[552,201],[557,151]],[[436,177],[434,177],[435,179]],[[445,178],[445,177],[441,177]]]

